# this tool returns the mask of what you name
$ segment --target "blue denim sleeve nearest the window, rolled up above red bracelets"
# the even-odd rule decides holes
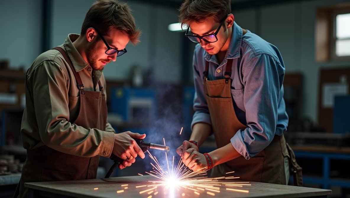
[[[273,56],[260,54],[245,64],[243,75],[247,128],[238,130],[231,143],[250,159],[274,138],[284,67]]]

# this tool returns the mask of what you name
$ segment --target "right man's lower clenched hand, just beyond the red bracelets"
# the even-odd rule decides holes
[[[202,168],[204,170],[208,167],[208,162],[204,154],[196,151],[194,148],[189,148],[183,152],[182,162],[193,171],[197,171]]]

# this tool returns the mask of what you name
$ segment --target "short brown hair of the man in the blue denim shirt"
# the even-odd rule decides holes
[[[181,26],[193,21],[202,22],[212,16],[216,22],[220,22],[225,16],[231,14],[231,0],[185,0],[179,11]]]

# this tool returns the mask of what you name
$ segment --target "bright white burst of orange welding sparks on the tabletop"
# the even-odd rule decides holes
[[[182,128],[181,128],[181,131],[182,131]],[[163,138],[163,142],[164,142],[164,145],[166,145],[165,138]],[[150,195],[153,193],[153,195],[155,196],[158,194],[157,189],[160,187],[162,187],[162,189],[164,190],[164,195],[174,194],[175,189],[177,189],[177,191],[182,191],[182,192],[179,192],[181,193],[180,195],[182,196],[185,196],[185,195],[191,196],[189,192],[192,192],[196,195],[200,195],[201,193],[206,193],[212,196],[215,196],[216,193],[220,193],[221,191],[236,191],[236,192],[244,192],[244,193],[249,192],[248,190],[233,189],[235,187],[243,187],[246,185],[251,185],[251,184],[248,184],[249,182],[229,182],[227,180],[225,181],[225,179],[234,179],[239,177],[222,176],[222,177],[210,178],[208,176],[204,176],[204,175],[207,175],[207,172],[208,172],[207,168],[202,168],[197,171],[190,170],[188,167],[185,166],[181,158],[177,163],[177,166],[176,165],[174,166],[175,156],[173,156],[173,162],[169,166],[167,152],[165,153],[167,164],[166,164],[166,167],[162,167],[158,159],[155,156],[153,156],[148,150],[147,152],[149,157],[153,160],[154,163],[152,162],[150,163],[153,167],[152,170],[145,173],[155,177],[156,180],[148,181],[149,182],[148,185],[135,186],[135,188],[147,187],[147,189],[141,190],[139,192],[140,194],[145,193],[146,195]],[[234,173],[234,171],[226,174],[232,174],[232,173]],[[138,175],[143,176],[142,174],[138,174]],[[125,184],[122,186],[125,186]],[[121,191],[117,191],[117,193],[119,192]],[[152,197],[152,195],[148,197]],[[174,195],[172,195],[172,197],[174,197]]]

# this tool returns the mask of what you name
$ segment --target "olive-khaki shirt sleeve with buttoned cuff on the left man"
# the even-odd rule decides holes
[[[60,63],[63,64],[63,63]],[[69,122],[67,71],[55,61],[38,64],[28,77],[42,142],[57,151],[83,157],[109,157],[114,133]]]

